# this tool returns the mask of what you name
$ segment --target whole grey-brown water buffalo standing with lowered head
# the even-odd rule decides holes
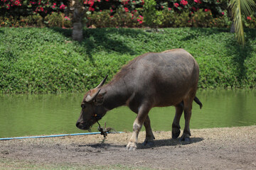
[[[110,83],[103,86],[107,79],[105,77],[95,89],[87,91],[82,99],[82,111],[76,126],[88,130],[107,111],[118,106],[128,106],[137,113],[132,137],[127,145],[127,149],[134,150],[142,125],[146,129],[144,145],[152,145],[154,140],[149,110],[153,107],[175,106],[172,137],[180,135],[179,121],[184,111],[185,128],[181,140],[189,141],[193,100],[202,107],[196,97],[198,74],[198,64],[186,50],[174,49],[141,55],[122,67]]]

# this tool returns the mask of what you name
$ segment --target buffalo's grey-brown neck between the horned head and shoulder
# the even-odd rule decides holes
[[[106,84],[102,87],[101,91],[105,93],[103,106],[107,108],[107,110],[124,106],[129,96],[131,96],[128,87],[124,81],[120,79],[119,81],[111,81],[109,84]]]

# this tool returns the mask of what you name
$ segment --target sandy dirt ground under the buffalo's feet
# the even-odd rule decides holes
[[[256,125],[191,130],[189,143],[172,140],[171,132],[154,132],[154,147],[142,145],[145,132],[140,132],[138,149],[127,152],[131,135],[109,134],[104,143],[102,135],[0,141],[0,166],[11,169],[4,164],[11,161],[71,168],[256,169]]]

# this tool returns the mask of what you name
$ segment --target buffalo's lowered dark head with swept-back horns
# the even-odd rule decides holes
[[[105,83],[107,76],[95,88],[87,91],[82,99],[80,117],[76,126],[81,130],[90,130],[93,124],[100,120],[106,114],[107,109],[102,106],[104,94],[100,94],[100,90]]]

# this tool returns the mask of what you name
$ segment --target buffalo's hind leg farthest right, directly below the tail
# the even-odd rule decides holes
[[[193,102],[193,98],[187,98],[186,100],[184,100],[184,118],[185,118],[185,128],[183,130],[183,135],[181,136],[181,141],[185,141],[185,142],[190,142],[190,136],[191,136],[191,132],[190,132],[190,128],[189,128],[189,123],[191,120],[191,110],[192,110],[192,102]]]

